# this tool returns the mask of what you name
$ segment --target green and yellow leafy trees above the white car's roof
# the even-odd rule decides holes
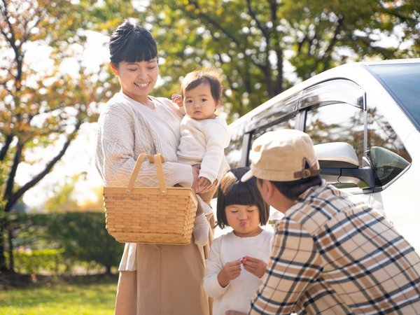
[[[153,0],[141,15],[162,54],[162,94],[213,65],[225,75],[230,119],[293,84],[288,64],[305,79],[351,60],[419,56],[419,20],[415,0]],[[380,45],[381,36],[395,45]]]

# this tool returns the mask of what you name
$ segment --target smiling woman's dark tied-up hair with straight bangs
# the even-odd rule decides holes
[[[109,52],[111,62],[118,66],[122,61],[142,62],[158,58],[158,45],[150,31],[125,20],[111,35]]]

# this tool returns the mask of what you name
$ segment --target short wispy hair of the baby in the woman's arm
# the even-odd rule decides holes
[[[223,90],[221,76],[216,70],[209,68],[193,71],[186,75],[181,85],[182,98],[186,91],[193,90],[202,83],[210,85],[211,96],[216,103],[221,104]]]

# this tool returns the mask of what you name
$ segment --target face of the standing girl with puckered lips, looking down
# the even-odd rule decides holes
[[[231,204],[225,208],[228,225],[237,237],[253,237],[261,232],[260,211],[257,206]]]

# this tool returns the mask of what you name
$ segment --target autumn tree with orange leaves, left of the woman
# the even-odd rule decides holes
[[[52,170],[80,126],[96,120],[94,109],[106,96],[104,81],[109,78],[94,73],[80,59],[85,44],[80,20],[80,6],[71,1],[1,0],[0,203],[5,213]],[[37,48],[50,54],[48,66],[26,62]],[[62,63],[70,58],[76,75],[62,71]],[[40,151],[41,159],[34,160]],[[41,168],[18,186],[16,174],[22,163]],[[0,270],[6,269],[4,243],[0,224]]]

